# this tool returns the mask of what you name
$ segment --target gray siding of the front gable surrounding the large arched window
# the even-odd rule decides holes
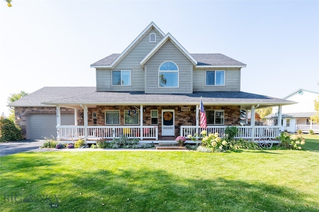
[[[165,61],[172,61],[178,66],[179,87],[159,88],[159,67]],[[191,94],[193,65],[169,40],[145,64],[147,94]]]

